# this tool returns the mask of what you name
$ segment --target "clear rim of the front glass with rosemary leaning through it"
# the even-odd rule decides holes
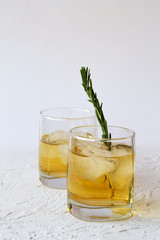
[[[85,125],[85,126],[74,127],[72,129],[70,129],[69,135],[78,140],[90,141],[90,142],[108,142],[108,141],[115,141],[115,140],[125,140],[125,139],[135,137],[135,132],[133,130],[126,128],[126,127],[120,127],[120,126],[114,126],[114,125],[108,125],[108,127],[119,128],[119,129],[125,130],[126,132],[130,133],[131,135],[127,136],[127,137],[120,137],[120,138],[87,138],[87,137],[77,136],[76,134],[73,133],[73,131],[75,129],[89,128],[89,127],[96,127],[96,128],[99,127],[100,128],[101,126],[100,125]]]

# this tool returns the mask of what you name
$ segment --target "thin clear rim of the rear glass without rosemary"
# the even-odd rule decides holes
[[[45,112],[51,111],[51,110],[73,110],[73,111],[83,111],[83,112],[88,112],[91,113],[90,116],[86,117],[53,117],[49,116],[48,114],[45,114]],[[93,118],[95,117],[95,112],[90,109],[86,108],[79,108],[79,107],[55,107],[55,108],[46,108],[40,111],[40,116],[47,118],[47,119],[55,119],[55,120],[78,120],[78,119],[88,119],[88,118]]]

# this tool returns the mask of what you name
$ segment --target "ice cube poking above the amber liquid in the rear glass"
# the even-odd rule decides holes
[[[68,133],[63,130],[57,130],[49,135],[49,142],[52,144],[68,143]]]

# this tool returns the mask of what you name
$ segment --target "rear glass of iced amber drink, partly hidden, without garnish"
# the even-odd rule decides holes
[[[94,111],[79,108],[52,108],[40,112],[39,175],[51,188],[67,187],[69,130],[95,124]]]

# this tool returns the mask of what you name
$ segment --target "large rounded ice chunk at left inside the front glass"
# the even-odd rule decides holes
[[[103,175],[109,175],[119,163],[118,158],[112,157],[112,154],[108,153],[106,148],[93,147],[91,144],[86,144],[85,148],[82,149],[79,147],[79,150],[75,153],[77,154],[75,154],[73,162],[75,171],[88,181],[95,181]]]

